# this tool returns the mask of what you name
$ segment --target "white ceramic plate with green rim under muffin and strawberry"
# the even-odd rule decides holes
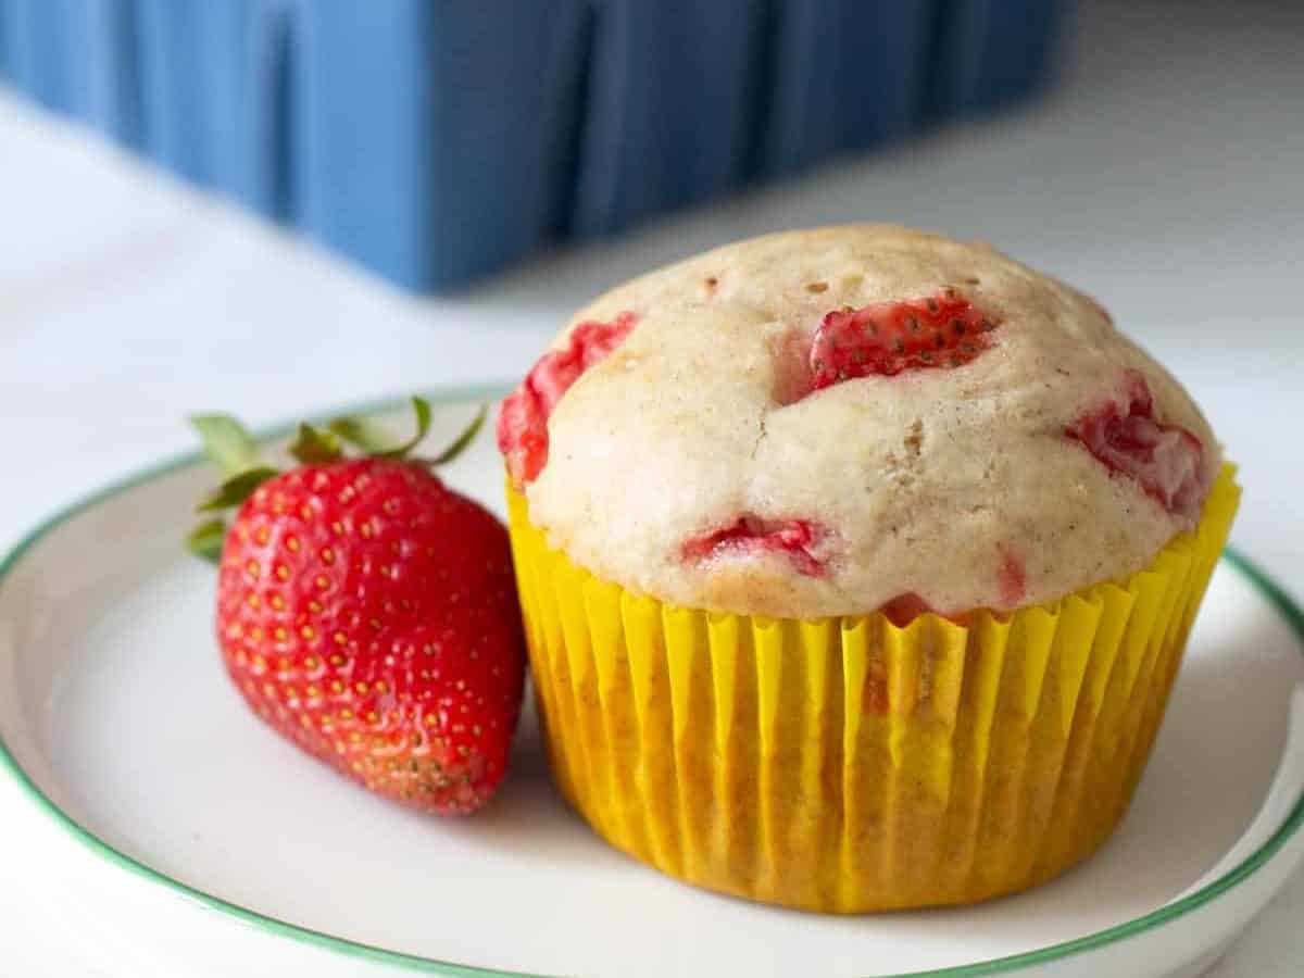
[[[481,395],[438,396],[434,437]],[[446,477],[501,509],[490,438]],[[825,918],[698,892],[606,848],[554,793],[532,717],[498,801],[460,822],[372,798],[279,741],[230,687],[211,570],[181,550],[210,481],[194,458],[170,462],[0,565],[0,769],[159,884],[149,913],[205,910],[142,923],[141,953],[236,922],[256,948],[245,974],[1194,974],[1304,850],[1290,720],[1304,617],[1239,557],[1214,576],[1157,754],[1097,857],[977,908]],[[76,889],[94,917],[94,891]]]

